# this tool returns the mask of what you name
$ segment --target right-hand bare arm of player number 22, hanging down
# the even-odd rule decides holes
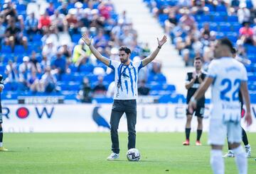
[[[245,122],[247,122],[247,125],[250,126],[250,124],[252,124],[252,115],[250,113],[250,95],[247,88],[247,81],[241,82],[240,91],[242,93],[242,97],[244,98],[246,106]]]

